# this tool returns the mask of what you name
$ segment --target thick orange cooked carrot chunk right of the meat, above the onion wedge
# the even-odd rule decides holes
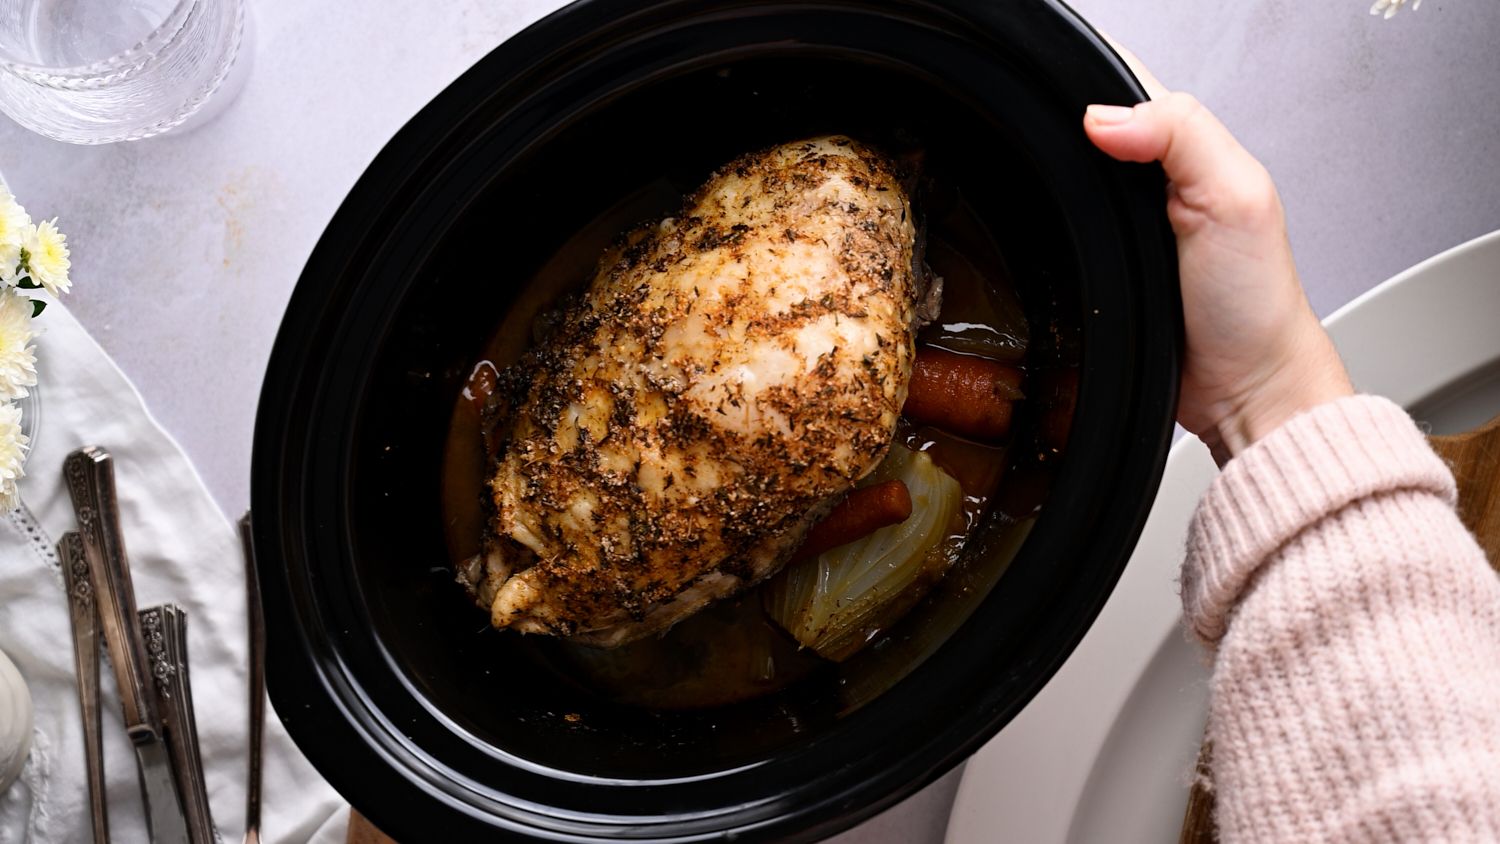
[[[1022,370],[996,360],[924,346],[916,351],[902,414],[958,436],[1005,439],[1022,378]]]

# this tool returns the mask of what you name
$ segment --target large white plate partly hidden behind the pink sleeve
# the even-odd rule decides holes
[[[1455,433],[1500,414],[1500,231],[1424,261],[1326,321],[1360,391]],[[1176,841],[1203,735],[1208,663],[1179,627],[1208,450],[1173,447],[1136,553],[1046,688],[969,760],[948,844]]]

